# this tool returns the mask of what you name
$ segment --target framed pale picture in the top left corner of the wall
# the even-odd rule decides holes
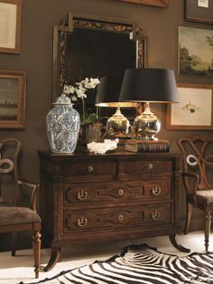
[[[0,52],[20,53],[22,0],[0,0]]]

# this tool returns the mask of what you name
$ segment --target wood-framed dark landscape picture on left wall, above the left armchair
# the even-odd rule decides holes
[[[25,72],[0,71],[0,128],[25,127],[25,90]]]

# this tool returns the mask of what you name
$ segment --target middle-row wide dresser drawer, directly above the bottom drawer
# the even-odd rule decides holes
[[[171,179],[64,185],[64,205],[170,198]]]

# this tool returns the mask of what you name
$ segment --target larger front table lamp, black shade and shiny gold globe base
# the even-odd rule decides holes
[[[144,68],[125,71],[120,101],[144,102],[145,109],[134,119],[136,137],[158,140],[161,121],[150,109],[150,103],[179,102],[174,72],[167,69]]]

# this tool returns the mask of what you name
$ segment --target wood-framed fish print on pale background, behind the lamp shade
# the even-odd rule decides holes
[[[178,84],[179,103],[167,107],[167,128],[213,129],[213,85]]]

